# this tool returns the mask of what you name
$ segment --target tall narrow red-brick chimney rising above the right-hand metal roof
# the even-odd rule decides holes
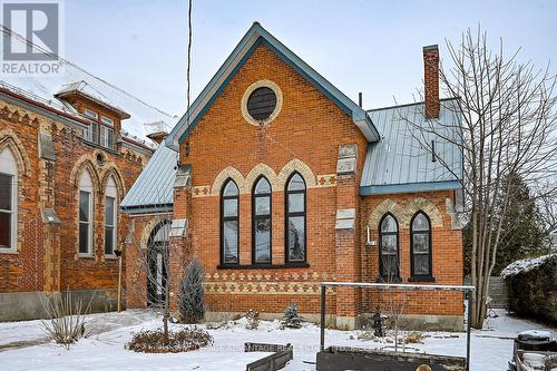
[[[439,48],[423,47],[423,98],[426,119],[439,118]]]

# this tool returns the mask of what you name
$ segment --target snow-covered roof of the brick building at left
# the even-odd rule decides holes
[[[40,52],[48,52],[4,26],[1,26],[1,37],[3,38],[4,45],[8,42],[29,45]],[[53,76],[2,74],[0,76],[0,90],[17,94],[37,104],[61,111],[69,117],[75,117],[76,119],[79,119],[81,115],[57,96],[59,94],[63,95],[63,92],[69,90],[87,94],[101,105],[129,114],[130,117],[128,119],[121,120],[123,137],[145,145],[152,144],[152,140],[147,138],[148,133],[144,126],[145,124],[164,121],[168,126],[175,125],[176,117],[89,74],[72,62],[60,57],[58,58],[60,70],[62,70],[61,74]]]

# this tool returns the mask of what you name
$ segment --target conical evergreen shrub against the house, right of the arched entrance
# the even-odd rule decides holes
[[[178,310],[185,323],[198,323],[205,316],[203,267],[194,258],[186,267],[179,284]]]

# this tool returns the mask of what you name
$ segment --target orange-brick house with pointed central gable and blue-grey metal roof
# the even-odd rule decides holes
[[[364,110],[254,23],[123,202],[128,307],[148,304],[135,262],[163,227],[170,296],[196,257],[209,318],[295,302],[316,319],[322,281],[462,284],[461,154],[419,128],[457,138],[460,116],[437,46],[423,57],[424,102]],[[330,321],[352,328],[388,294],[334,290]],[[408,294],[404,314],[461,328],[462,295]]]

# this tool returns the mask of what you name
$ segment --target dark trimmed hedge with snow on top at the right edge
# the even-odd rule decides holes
[[[557,323],[557,254],[512,263],[504,274],[514,312]]]

